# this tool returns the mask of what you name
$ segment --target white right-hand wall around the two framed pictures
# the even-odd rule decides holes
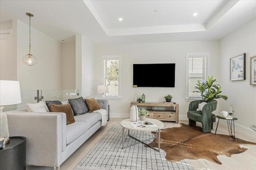
[[[246,53],[246,80],[229,81],[230,57]],[[236,124],[250,129],[256,122],[256,86],[250,85],[250,57],[256,55],[256,19],[237,29],[220,41],[220,83],[227,101],[219,103],[220,110],[228,111],[232,104]],[[251,129],[250,129],[251,130]]]

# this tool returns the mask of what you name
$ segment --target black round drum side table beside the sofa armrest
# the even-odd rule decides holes
[[[0,170],[26,170],[26,138],[10,137],[0,149]]]

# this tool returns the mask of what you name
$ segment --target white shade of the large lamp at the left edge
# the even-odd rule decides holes
[[[0,80],[0,106],[19,103],[21,103],[20,82]]]

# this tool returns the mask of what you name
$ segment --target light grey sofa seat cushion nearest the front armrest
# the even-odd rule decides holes
[[[67,145],[88,131],[86,122],[78,122],[67,125]]]

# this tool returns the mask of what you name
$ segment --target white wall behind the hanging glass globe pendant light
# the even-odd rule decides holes
[[[32,27],[31,54],[37,63],[24,64],[22,57],[29,53],[29,25],[17,20],[17,79],[21,90],[62,89],[61,50],[61,43]]]

